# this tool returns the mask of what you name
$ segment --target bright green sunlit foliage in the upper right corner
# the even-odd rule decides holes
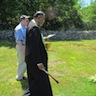
[[[96,30],[96,0],[90,6],[80,10],[82,20],[87,30]]]

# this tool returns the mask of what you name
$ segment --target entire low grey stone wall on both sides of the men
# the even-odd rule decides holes
[[[96,31],[43,31],[44,36],[56,34],[51,40],[96,39]],[[0,31],[1,40],[14,40],[14,31]]]

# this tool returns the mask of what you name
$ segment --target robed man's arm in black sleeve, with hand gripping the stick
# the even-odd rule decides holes
[[[33,35],[31,35],[31,34],[33,34]],[[42,38],[41,38],[41,34],[39,32],[39,29],[37,27],[34,27],[32,29],[32,32],[30,32],[30,36],[32,36],[32,37],[30,37],[30,42],[33,41],[32,43],[30,43],[30,49],[37,60],[36,65],[40,70],[43,70],[43,69],[45,69],[45,66],[42,63],[41,55],[40,55],[40,42],[42,41]]]

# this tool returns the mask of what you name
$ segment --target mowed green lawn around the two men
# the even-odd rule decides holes
[[[50,78],[54,96],[96,96],[96,83],[89,81],[96,74],[96,40],[50,44],[49,73],[60,82]],[[16,68],[15,43],[0,41],[0,96],[21,96],[27,89],[27,82],[15,80]]]

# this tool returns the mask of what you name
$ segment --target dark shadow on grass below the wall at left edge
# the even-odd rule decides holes
[[[0,40],[0,47],[15,48],[15,41]]]

